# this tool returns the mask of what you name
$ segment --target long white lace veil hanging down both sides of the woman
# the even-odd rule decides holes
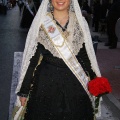
[[[24,76],[26,74],[26,71],[28,69],[28,66],[30,64],[30,59],[32,56],[34,56],[36,48],[37,48],[37,37],[39,34],[39,27],[41,26],[42,22],[45,19],[45,16],[47,12],[49,11],[49,0],[43,0],[41,3],[41,6],[39,7],[39,10],[32,22],[32,25],[29,29],[27,39],[26,39],[26,45],[23,53],[23,60],[22,60],[22,66],[21,66],[21,73],[20,73],[20,78],[19,78],[19,83],[16,89],[16,93],[19,92],[21,88],[21,84],[23,82]],[[94,53],[93,45],[92,45],[92,40],[91,40],[91,35],[89,32],[89,27],[86,23],[86,20],[82,16],[78,0],[71,0],[70,4],[70,11],[75,12],[75,15],[77,17],[79,26],[81,27],[83,32],[83,39],[85,42],[85,47],[87,50],[88,57],[91,62],[91,67],[93,71],[96,73],[98,77],[101,76],[98,64],[96,61],[96,56]]]

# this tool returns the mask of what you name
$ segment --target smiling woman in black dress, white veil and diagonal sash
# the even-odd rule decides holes
[[[16,105],[20,100],[24,106],[29,95],[24,120],[93,120],[88,76],[101,75],[78,1],[43,0],[27,36],[16,90]]]

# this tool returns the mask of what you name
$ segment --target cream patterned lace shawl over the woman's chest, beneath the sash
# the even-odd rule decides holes
[[[82,48],[84,42],[83,33],[82,29],[80,29],[75,13],[70,12],[69,18],[70,21],[67,27],[67,32],[69,32],[69,36],[67,37],[66,41],[68,42],[73,53],[77,55],[78,52],[80,51],[80,48]],[[53,43],[49,40],[47,34],[41,27],[37,39],[38,42],[45,47],[45,49],[49,50],[53,54],[53,56],[61,58],[56,49],[54,48]]]

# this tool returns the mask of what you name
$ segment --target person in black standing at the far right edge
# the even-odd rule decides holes
[[[115,34],[115,25],[117,20],[120,18],[119,11],[120,11],[120,0],[114,0],[107,15],[108,42],[105,43],[105,46],[109,46],[110,49],[117,48],[118,38]]]

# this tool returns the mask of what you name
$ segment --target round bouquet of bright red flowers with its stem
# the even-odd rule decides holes
[[[95,99],[95,113],[98,112],[100,97],[104,94],[112,92],[110,83],[107,78],[96,77],[88,83],[89,92],[96,97]]]

